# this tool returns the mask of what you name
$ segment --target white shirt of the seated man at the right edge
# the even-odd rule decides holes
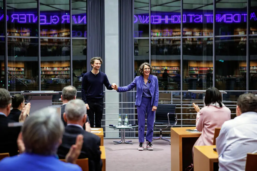
[[[257,153],[257,113],[226,121],[216,138],[219,171],[244,171],[247,153]]]

